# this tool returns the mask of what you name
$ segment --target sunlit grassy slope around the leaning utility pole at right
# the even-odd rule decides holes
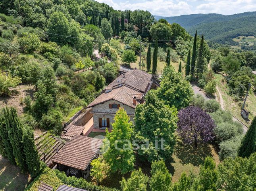
[[[243,117],[240,114],[241,106],[243,105],[244,100],[235,102],[232,99],[232,97],[228,94],[229,90],[228,90],[225,78],[223,78],[221,75],[218,75],[218,74],[216,74],[215,77],[217,79],[217,85],[219,87],[219,90],[221,91],[225,110],[230,111],[232,113],[232,115],[234,115],[239,120],[241,120],[245,125],[249,126],[253,117],[256,115],[256,110],[255,110],[256,95],[253,93],[252,89],[250,89],[249,95],[246,100],[246,106],[245,106],[245,109],[250,112],[249,121],[248,121],[248,120],[243,119]],[[217,97],[219,97],[218,93],[216,93],[216,94],[217,94]]]

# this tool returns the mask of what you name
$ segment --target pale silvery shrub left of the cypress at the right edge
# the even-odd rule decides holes
[[[219,144],[219,159],[223,161],[224,159],[231,157],[235,158],[237,156],[237,150],[241,144],[243,136],[236,136],[230,140],[223,141]]]

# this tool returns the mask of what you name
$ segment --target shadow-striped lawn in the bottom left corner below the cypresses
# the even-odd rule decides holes
[[[0,190],[23,191],[30,179],[28,174],[21,174],[17,166],[0,155]]]

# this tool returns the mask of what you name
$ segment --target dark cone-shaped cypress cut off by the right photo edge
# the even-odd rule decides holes
[[[238,148],[239,157],[250,157],[252,153],[256,152],[256,117],[247,130],[244,138]]]

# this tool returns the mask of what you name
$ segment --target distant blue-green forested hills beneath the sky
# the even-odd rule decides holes
[[[206,39],[219,43],[233,44],[232,38],[256,34],[256,11],[234,15],[221,15],[216,13],[181,15],[176,17],[155,18],[166,19],[169,23],[178,23],[191,35],[195,30],[204,34]]]

